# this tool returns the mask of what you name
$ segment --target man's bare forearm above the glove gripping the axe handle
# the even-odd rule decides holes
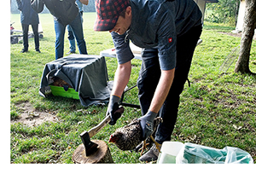
[[[122,96],[131,75],[131,61],[119,65],[114,75],[112,95]]]

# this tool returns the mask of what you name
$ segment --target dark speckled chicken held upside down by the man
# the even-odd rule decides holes
[[[154,119],[154,130],[156,130],[157,125],[159,125],[161,121],[162,119],[160,117]],[[124,127],[117,129],[110,136],[108,142],[113,142],[121,150],[135,149],[137,145],[142,142],[143,130],[139,122],[139,119],[133,119],[129,125],[125,125]],[[150,137],[152,141],[156,144],[156,147],[159,148],[159,144],[154,141],[153,136],[150,135]],[[146,148],[146,141],[143,142],[144,150]],[[141,154],[143,154],[143,150]]]

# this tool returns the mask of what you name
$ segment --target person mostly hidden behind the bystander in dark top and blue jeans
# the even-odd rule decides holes
[[[80,2],[80,0],[76,0],[76,3],[79,6],[79,13],[81,14],[81,21],[82,21],[82,26],[83,26],[83,13],[84,13],[84,6],[83,3]],[[88,1],[85,5],[88,5]],[[72,54],[76,52],[76,42],[73,34],[73,29],[70,25],[67,25],[67,32],[68,32],[68,41],[69,41],[69,51],[68,54]]]

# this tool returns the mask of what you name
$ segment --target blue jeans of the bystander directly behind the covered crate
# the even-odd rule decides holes
[[[77,39],[79,53],[87,55],[80,13],[69,25],[72,27],[75,38]],[[58,20],[55,20],[55,59],[63,57],[65,30],[66,26],[63,26]]]

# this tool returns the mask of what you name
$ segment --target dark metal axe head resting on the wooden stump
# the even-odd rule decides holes
[[[89,156],[90,154],[93,154],[96,152],[98,144],[90,141],[90,136],[88,131],[84,131],[83,133],[81,133],[80,138],[84,144],[86,156]]]

